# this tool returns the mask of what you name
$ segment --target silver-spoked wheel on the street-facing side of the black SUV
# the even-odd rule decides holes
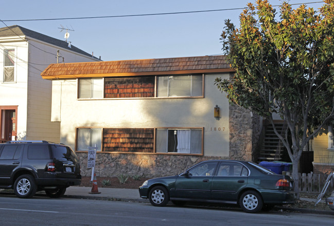
[[[35,180],[30,175],[22,175],[15,180],[14,193],[19,198],[31,198],[36,190]]]

